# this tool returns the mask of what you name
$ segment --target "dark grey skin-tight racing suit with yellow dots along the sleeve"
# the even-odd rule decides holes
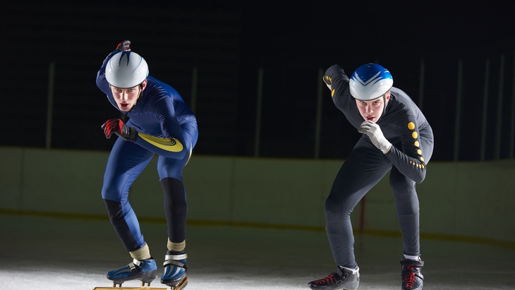
[[[355,128],[365,121],[349,91],[349,78],[334,65],[327,69],[332,100]],[[342,267],[358,267],[354,256],[351,212],[370,189],[390,171],[405,255],[420,255],[419,204],[416,183],[425,179],[433,150],[432,129],[412,99],[392,87],[389,102],[376,122],[392,143],[386,153],[363,134],[341,166],[325,203],[326,233],[334,261]]]

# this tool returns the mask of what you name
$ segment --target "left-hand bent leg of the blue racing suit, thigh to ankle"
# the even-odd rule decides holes
[[[138,218],[128,202],[128,193],[152,156],[152,152],[140,145],[118,138],[107,159],[102,198],[111,224],[128,251],[145,246]]]

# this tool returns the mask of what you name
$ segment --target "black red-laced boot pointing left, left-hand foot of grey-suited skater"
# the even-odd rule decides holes
[[[359,286],[359,268],[356,272],[338,267],[337,272],[329,274],[329,276],[320,280],[308,283],[311,289],[327,289],[327,290],[355,290]]]

